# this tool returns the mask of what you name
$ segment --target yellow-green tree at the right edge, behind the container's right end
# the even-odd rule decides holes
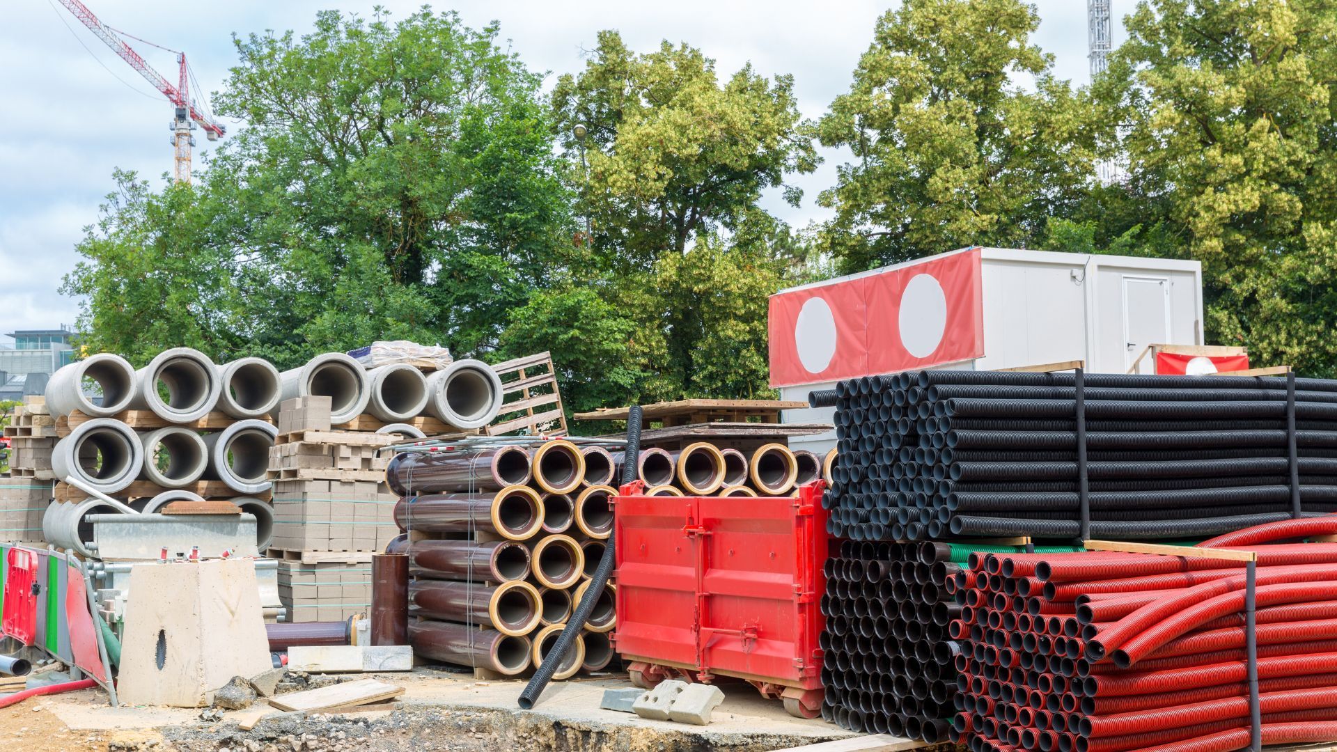
[[[1337,375],[1337,3],[1152,0],[1124,25],[1102,116],[1139,221],[1203,264],[1209,341]]]

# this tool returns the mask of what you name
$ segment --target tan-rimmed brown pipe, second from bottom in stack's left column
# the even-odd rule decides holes
[[[414,579],[409,583],[413,616],[491,626],[521,637],[539,626],[539,590],[524,581],[496,587],[477,582]]]

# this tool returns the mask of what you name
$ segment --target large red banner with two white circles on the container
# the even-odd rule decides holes
[[[770,297],[771,387],[983,355],[977,248]]]

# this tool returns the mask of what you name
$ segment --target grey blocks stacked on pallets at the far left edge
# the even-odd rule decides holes
[[[51,450],[56,446],[56,424],[45,400],[24,397],[4,435],[9,439],[9,478],[0,478],[0,542],[41,543],[41,515],[55,480]]]

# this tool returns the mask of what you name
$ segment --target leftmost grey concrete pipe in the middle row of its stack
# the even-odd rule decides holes
[[[115,494],[139,478],[144,447],[135,431],[111,417],[95,417],[56,442],[51,468],[56,478],[74,476],[90,488]]]

